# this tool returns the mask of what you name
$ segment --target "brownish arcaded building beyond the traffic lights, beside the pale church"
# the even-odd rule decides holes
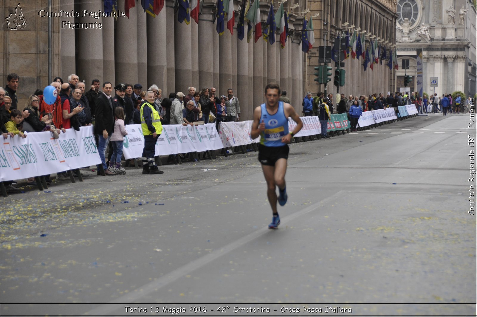
[[[338,34],[360,28],[358,32],[365,36],[365,43],[369,43],[371,38],[378,40],[382,45],[394,50],[395,25],[396,25],[396,0],[309,0],[311,14],[319,13],[313,19],[315,27],[315,43],[313,49],[306,56],[306,88],[313,93],[323,92],[324,85],[318,85],[314,81],[314,67],[322,64],[318,61],[318,46],[332,45]],[[316,23],[316,22],[318,23]],[[348,24],[346,25],[346,22]],[[354,28],[350,26],[354,25]],[[335,69],[332,61],[332,73]],[[351,57],[344,61],[346,71],[345,85],[339,87],[339,92],[345,95],[370,95],[373,93],[384,93],[394,90],[394,68],[390,70],[383,64],[373,65],[373,70],[369,67],[363,69],[363,58],[353,59]],[[328,83],[328,93],[336,94],[333,83]]]

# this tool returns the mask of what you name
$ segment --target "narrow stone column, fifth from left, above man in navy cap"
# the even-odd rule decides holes
[[[137,82],[143,85],[143,91],[149,88],[147,82],[147,23],[146,15],[140,2],[136,2],[136,14],[137,14]],[[134,10],[129,10],[130,12]],[[134,85],[135,83],[131,83]]]

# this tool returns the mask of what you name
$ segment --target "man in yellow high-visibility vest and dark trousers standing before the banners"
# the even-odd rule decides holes
[[[141,105],[141,128],[144,135],[143,149],[143,174],[163,174],[162,170],[157,169],[156,161],[156,142],[162,133],[161,116],[156,111],[154,105],[154,92],[149,90],[145,95],[146,101]]]

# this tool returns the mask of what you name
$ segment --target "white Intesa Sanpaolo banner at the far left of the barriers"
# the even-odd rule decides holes
[[[67,129],[55,139],[51,132],[26,133],[0,140],[0,181],[18,180],[101,163],[93,126]]]

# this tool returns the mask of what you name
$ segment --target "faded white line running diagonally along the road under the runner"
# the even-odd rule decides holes
[[[282,218],[281,220],[283,220],[285,222],[290,222],[291,220],[293,220],[295,218],[298,218],[298,217],[300,217],[300,216],[302,216],[302,215],[304,215],[308,212],[314,211],[317,208],[322,207],[326,202],[336,200],[337,198],[340,198],[340,197],[342,197],[342,190],[338,191],[336,194],[334,194],[334,195],[332,195],[328,198],[325,198],[321,201],[315,202],[314,204],[312,204],[309,207],[306,207],[306,208],[304,208],[300,211],[296,211],[296,212],[292,213],[290,216],[286,216],[286,217]],[[103,304],[99,307],[93,308],[89,312],[85,313],[85,315],[108,315],[108,314],[110,314],[113,311],[118,309],[117,306],[109,305],[109,304],[134,303],[139,298],[147,296],[150,293],[158,291],[161,287],[164,287],[164,286],[176,281],[177,279],[187,275],[188,273],[190,273],[192,271],[195,271],[198,268],[200,268],[200,267],[202,267],[202,266],[204,266],[204,265],[206,265],[206,264],[208,264],[208,263],[210,263],[214,260],[217,260],[222,255],[228,254],[228,253],[232,252],[233,250],[239,248],[240,246],[242,246],[244,244],[247,244],[247,243],[253,241],[254,239],[257,239],[262,235],[268,234],[269,232],[270,232],[270,229],[267,228],[266,225],[264,225],[263,228],[255,231],[255,232],[251,232],[248,235],[246,235],[246,236],[244,236],[244,237],[242,237],[242,238],[240,238],[240,239],[238,239],[234,242],[228,243],[227,245],[225,245],[225,246],[223,246],[223,247],[221,247],[221,248],[219,248],[215,251],[212,251],[209,254],[206,254],[206,255],[204,255],[204,256],[196,259],[196,260],[193,260],[193,261],[177,268],[176,270],[174,270],[170,273],[167,273],[166,275],[163,275],[163,276],[159,277],[155,281],[149,282],[149,283],[147,283],[143,286],[139,286],[134,291],[129,292],[129,294],[127,294],[127,295],[117,297],[114,301],[111,301],[107,304]]]

